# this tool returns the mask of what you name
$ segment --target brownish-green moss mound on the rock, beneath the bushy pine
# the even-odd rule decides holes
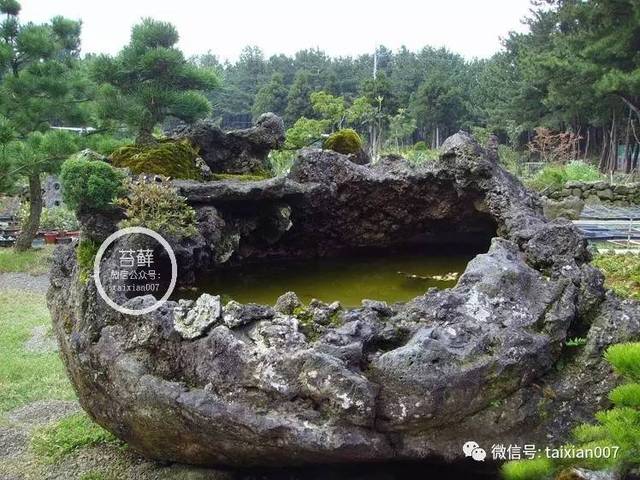
[[[196,165],[198,151],[187,140],[162,140],[153,145],[126,145],[111,154],[116,167],[129,168],[131,173],[155,173],[171,178],[201,180]]]

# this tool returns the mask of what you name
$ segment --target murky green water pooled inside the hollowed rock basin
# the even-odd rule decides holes
[[[454,286],[471,258],[471,254],[406,254],[278,260],[216,272],[200,278],[196,290],[178,292],[177,297],[210,293],[241,303],[273,305],[280,295],[294,291],[304,303],[313,298],[338,300],[346,307],[359,306],[363,298],[405,302],[431,287]]]

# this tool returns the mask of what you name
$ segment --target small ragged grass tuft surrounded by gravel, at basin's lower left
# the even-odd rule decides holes
[[[57,462],[65,455],[99,444],[121,445],[121,442],[85,413],[76,413],[47,425],[34,433],[31,448],[42,458]]]

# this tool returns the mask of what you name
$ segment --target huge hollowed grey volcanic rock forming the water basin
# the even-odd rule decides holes
[[[276,308],[229,302],[193,339],[176,328],[175,302],[136,317],[110,309],[92,279],[79,282],[73,248],[61,249],[48,301],[82,406],[152,458],[462,461],[469,439],[560,445],[606,407],[617,380],[603,350],[640,332],[638,304],[605,292],[571,223],[546,220],[538,198],[465,134],[420,168],[304,150],[284,179],[175,183],[200,219],[180,251],[187,278],[246,261],[494,238],[454,288],[355,309],[300,308],[290,295]],[[575,336],[586,345],[567,347]]]

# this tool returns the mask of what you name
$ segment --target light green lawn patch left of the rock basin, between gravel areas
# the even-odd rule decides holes
[[[50,322],[43,295],[0,291],[0,412],[36,400],[75,398],[56,352],[23,348],[34,327]]]

